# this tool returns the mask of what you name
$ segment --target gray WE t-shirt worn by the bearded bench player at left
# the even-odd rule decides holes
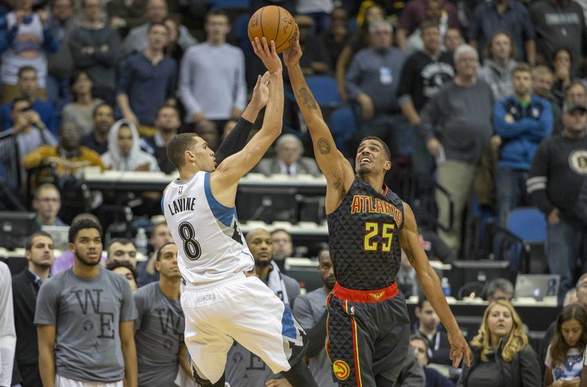
[[[41,285],[35,324],[55,325],[57,375],[112,383],[124,378],[119,323],[136,317],[124,277],[101,267],[86,280],[69,269]]]

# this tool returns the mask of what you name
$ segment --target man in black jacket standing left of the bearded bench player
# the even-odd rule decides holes
[[[39,286],[48,279],[54,259],[51,236],[41,231],[32,234],[26,240],[24,254],[28,260],[28,267],[12,277],[17,332],[12,384],[20,382],[23,387],[40,387],[42,384],[39,376],[37,328],[32,321],[35,318]]]

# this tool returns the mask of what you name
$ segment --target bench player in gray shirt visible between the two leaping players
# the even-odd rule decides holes
[[[318,254],[318,272],[322,276],[324,286],[298,296],[294,305],[294,317],[308,332],[310,341],[307,356],[308,367],[320,387],[336,387],[332,380],[330,361],[324,350],[326,340],[326,299],[336,283],[334,267],[330,259],[329,249],[322,249]]]

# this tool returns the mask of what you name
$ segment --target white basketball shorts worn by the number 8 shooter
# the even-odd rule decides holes
[[[185,342],[200,377],[215,383],[227,363],[233,339],[275,373],[287,371],[307,347],[302,326],[257,277],[235,274],[182,293]]]

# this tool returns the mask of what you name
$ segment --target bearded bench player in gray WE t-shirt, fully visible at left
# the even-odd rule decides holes
[[[137,387],[133,321],[126,279],[99,266],[102,227],[83,219],[69,229],[75,262],[39,289],[35,324],[44,387]]]

